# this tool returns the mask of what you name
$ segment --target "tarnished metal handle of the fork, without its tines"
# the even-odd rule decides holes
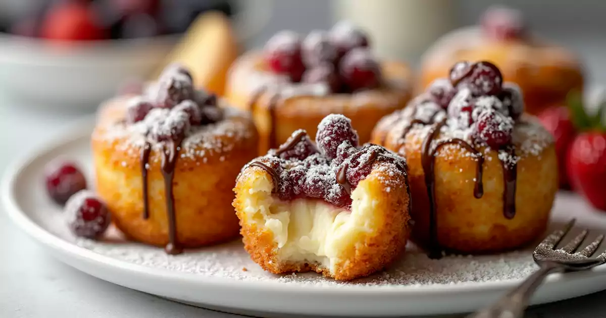
[[[510,291],[492,306],[484,308],[467,318],[522,318],[528,301],[534,291],[541,285],[545,277],[551,273],[564,271],[564,268],[554,264],[546,263],[538,271],[528,276],[516,289]]]

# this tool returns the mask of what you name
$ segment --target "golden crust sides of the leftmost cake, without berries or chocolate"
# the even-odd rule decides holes
[[[112,211],[113,222],[127,237],[163,246],[168,243],[168,218],[161,150],[153,148],[148,161],[150,216],[145,220],[141,145],[132,144],[130,136],[113,134],[109,124],[113,119],[107,116],[114,116],[116,111],[119,107],[100,112],[93,132],[96,190]],[[179,150],[173,194],[178,240],[184,247],[199,247],[238,235],[231,189],[242,165],[255,156],[258,135],[245,114],[233,114],[225,121],[228,122],[224,125],[244,131],[231,134],[208,131],[208,140],[228,147],[211,151],[204,144],[190,144]]]

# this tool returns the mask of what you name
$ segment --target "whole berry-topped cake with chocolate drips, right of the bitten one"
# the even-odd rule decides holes
[[[544,232],[558,162],[551,134],[523,111],[499,68],[458,62],[375,128],[373,142],[407,159],[413,240],[432,256],[509,250]]]

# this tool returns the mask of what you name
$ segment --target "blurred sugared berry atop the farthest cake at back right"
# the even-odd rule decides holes
[[[518,39],[525,31],[522,13],[501,6],[488,8],[482,15],[481,25],[485,35],[496,40]]]

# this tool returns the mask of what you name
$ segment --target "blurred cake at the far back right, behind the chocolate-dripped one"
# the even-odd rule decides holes
[[[533,34],[518,10],[491,7],[479,25],[454,30],[435,42],[423,58],[419,88],[448,76],[458,61],[488,61],[505,81],[524,92],[525,111],[539,114],[565,104],[570,91],[582,91],[584,76],[578,56]]]

